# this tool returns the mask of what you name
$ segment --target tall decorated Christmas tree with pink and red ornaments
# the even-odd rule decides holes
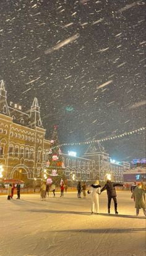
[[[51,140],[51,148],[49,149],[48,154],[48,161],[46,163],[46,171],[48,173],[48,183],[51,183],[51,179],[53,179],[53,182],[58,184],[61,179],[66,179],[66,176],[63,173],[64,163],[62,159],[62,152],[59,148],[57,128],[57,125],[55,125]]]

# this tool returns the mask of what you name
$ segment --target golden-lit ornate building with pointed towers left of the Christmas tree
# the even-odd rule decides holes
[[[0,162],[3,176],[17,179],[41,179],[48,159],[49,140],[45,140],[40,107],[34,98],[30,111],[12,102],[8,106],[4,81],[0,84]]]

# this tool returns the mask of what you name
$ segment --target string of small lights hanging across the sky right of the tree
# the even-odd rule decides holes
[[[115,135],[115,136],[111,136],[108,138],[104,138],[101,140],[92,140],[92,141],[84,141],[84,142],[79,142],[79,143],[64,143],[59,145],[60,146],[73,146],[73,145],[87,145],[87,144],[92,144],[92,143],[99,143],[99,142],[103,142],[103,141],[108,141],[108,140],[115,140],[117,138],[122,138],[124,136],[129,136],[129,135],[133,135],[135,133],[139,133],[139,131],[144,131],[145,127],[139,128],[137,130],[133,130],[133,131],[125,131],[124,133],[122,133],[121,135]],[[56,147],[54,147],[56,148]]]

